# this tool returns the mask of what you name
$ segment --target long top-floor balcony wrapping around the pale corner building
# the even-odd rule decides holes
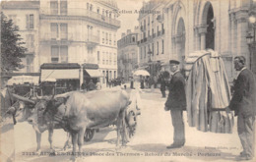
[[[71,19],[86,19],[86,20],[94,20],[97,21],[99,24],[107,24],[113,27],[120,27],[120,21],[111,19],[109,17],[102,16],[101,14],[97,14],[96,12],[92,12],[87,9],[81,9],[81,8],[68,8],[67,12],[64,14],[61,14],[58,12],[55,12],[56,14],[51,14],[50,8],[41,8],[40,10],[40,19],[49,19],[49,18],[64,18],[64,17],[70,17]]]

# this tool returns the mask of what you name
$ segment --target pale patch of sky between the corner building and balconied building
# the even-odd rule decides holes
[[[119,11],[121,12],[120,16],[118,17],[118,20],[121,22],[121,27],[117,30],[117,40],[119,40],[122,32],[126,33],[127,29],[134,31],[134,27],[139,26],[139,14],[135,13],[135,11],[139,11],[142,8],[143,0],[116,1]]]

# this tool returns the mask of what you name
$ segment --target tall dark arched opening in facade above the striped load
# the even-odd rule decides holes
[[[215,19],[214,19],[214,9],[210,2],[206,4],[203,18],[205,19],[207,25],[206,32],[206,49],[211,48],[215,50]]]

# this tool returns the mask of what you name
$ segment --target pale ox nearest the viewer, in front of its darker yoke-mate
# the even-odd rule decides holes
[[[88,93],[70,92],[66,96],[41,99],[29,122],[37,133],[46,129],[62,127],[72,136],[73,152],[81,152],[86,129],[98,129],[116,121],[117,142],[121,125],[124,123],[125,110],[131,102],[126,91],[96,90]],[[122,138],[122,144],[125,143]]]

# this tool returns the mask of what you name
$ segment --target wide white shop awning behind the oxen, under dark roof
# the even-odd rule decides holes
[[[80,79],[80,69],[55,69],[55,70],[48,70],[42,69],[41,70],[41,79],[40,81],[47,81],[51,79],[55,80],[79,80]]]

